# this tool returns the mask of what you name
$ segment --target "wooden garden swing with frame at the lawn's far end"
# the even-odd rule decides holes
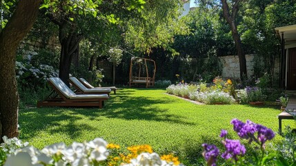
[[[132,75],[132,63],[137,62],[139,64],[139,74],[137,76]],[[146,67],[146,77],[141,76],[141,64],[144,62]],[[152,77],[149,75],[147,62],[152,62],[154,66],[154,70],[152,73]],[[130,86],[135,84],[146,84],[146,88],[149,86],[154,86],[155,83],[155,72],[156,72],[156,64],[155,61],[152,59],[141,58],[141,57],[132,57],[130,59]]]

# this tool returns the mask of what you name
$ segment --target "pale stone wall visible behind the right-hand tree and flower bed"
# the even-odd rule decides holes
[[[254,75],[254,57],[255,55],[246,55],[246,67],[248,77]],[[219,57],[221,60],[222,68],[222,77],[231,77],[239,78],[239,57],[237,55],[228,55]],[[262,62],[264,62],[262,60]],[[279,73],[279,59],[275,59],[275,74]]]

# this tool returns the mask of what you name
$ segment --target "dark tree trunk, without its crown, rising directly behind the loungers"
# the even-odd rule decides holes
[[[69,74],[70,66],[73,56],[79,54],[79,42],[82,39],[82,35],[77,33],[69,33],[68,36],[64,37],[65,34],[63,27],[59,26],[59,41],[61,43],[61,55],[59,59],[59,77],[67,86],[69,86]],[[77,55],[78,56],[78,55]]]

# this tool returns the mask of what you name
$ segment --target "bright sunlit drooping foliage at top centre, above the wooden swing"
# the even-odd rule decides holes
[[[184,21],[179,21],[182,3],[179,0],[146,1],[141,18],[130,18],[126,22],[125,42],[140,52],[151,53],[151,48],[170,47],[174,35],[188,33]]]

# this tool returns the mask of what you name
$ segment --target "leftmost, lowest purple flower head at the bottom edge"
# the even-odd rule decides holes
[[[202,153],[208,165],[216,166],[219,149],[215,145],[203,144],[204,152]]]

